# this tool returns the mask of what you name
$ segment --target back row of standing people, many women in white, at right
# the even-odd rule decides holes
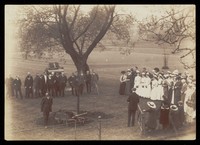
[[[188,72],[161,72],[155,68],[151,73],[128,69],[121,71],[120,95],[129,95],[133,88],[136,93],[149,101],[161,101],[167,106],[183,105],[185,122],[196,118],[196,82]]]

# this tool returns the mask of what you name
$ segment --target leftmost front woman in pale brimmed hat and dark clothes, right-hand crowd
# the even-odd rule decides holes
[[[149,131],[155,130],[157,127],[157,111],[156,104],[153,101],[147,102],[148,109],[143,110],[143,112],[148,112],[148,120],[146,122],[146,127]]]

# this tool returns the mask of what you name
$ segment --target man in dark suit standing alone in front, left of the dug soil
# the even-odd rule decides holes
[[[49,94],[46,93],[45,97],[42,98],[41,101],[41,112],[43,112],[45,128],[47,128],[49,112],[52,111],[52,104],[53,104],[53,98],[51,98]]]

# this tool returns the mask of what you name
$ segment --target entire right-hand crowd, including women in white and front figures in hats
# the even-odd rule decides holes
[[[146,68],[139,71],[135,67],[121,74],[119,94],[129,96],[128,126],[134,125],[140,98],[148,100],[149,109],[142,111],[149,113],[146,127],[150,130],[158,127],[158,121],[163,129],[171,126],[177,130],[195,120],[196,82],[188,72],[163,72],[159,68],[148,72]],[[161,106],[156,106],[157,101]]]

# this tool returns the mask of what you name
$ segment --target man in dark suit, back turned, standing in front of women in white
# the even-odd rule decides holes
[[[135,93],[136,88],[132,89],[132,93],[129,95],[128,103],[128,127],[134,126],[135,122],[135,112],[137,110],[137,105],[139,103],[139,96]]]

